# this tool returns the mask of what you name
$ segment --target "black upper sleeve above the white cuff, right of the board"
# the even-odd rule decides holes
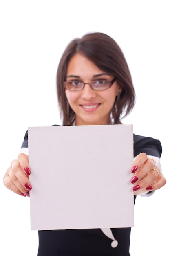
[[[144,152],[147,155],[161,157],[162,146],[158,139],[152,137],[144,137],[134,134],[134,157]]]

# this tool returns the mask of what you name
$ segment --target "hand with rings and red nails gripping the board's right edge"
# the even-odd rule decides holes
[[[145,153],[137,155],[131,170],[134,195],[145,195],[166,184],[165,177],[155,164],[155,159],[149,158]]]

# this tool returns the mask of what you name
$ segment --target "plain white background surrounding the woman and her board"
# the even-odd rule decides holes
[[[73,38],[94,31],[114,38],[130,67],[137,103],[124,124],[133,124],[135,134],[159,139],[163,147],[161,164],[167,184],[150,198],[137,198],[131,256],[169,255],[168,3],[0,1],[0,255],[37,254],[38,234],[30,230],[29,198],[7,190],[2,178],[20,152],[28,126],[60,124],[55,89],[58,62]]]

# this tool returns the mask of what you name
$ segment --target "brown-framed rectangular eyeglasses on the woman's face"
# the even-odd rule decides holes
[[[116,79],[117,77],[112,81],[108,81],[106,79],[97,79],[89,83],[84,83],[83,81],[74,79],[71,81],[65,81],[64,88],[69,91],[80,91],[80,90],[83,90],[85,84],[89,84],[91,89],[93,90],[106,90],[113,85]]]

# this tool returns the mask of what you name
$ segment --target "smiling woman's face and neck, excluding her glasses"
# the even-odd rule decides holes
[[[82,54],[75,54],[68,63],[66,81],[89,83],[97,79],[113,80],[115,77],[100,70]],[[80,91],[65,90],[68,103],[75,112],[76,125],[110,124],[110,112],[117,93],[117,81],[106,90],[93,90],[89,84]]]

